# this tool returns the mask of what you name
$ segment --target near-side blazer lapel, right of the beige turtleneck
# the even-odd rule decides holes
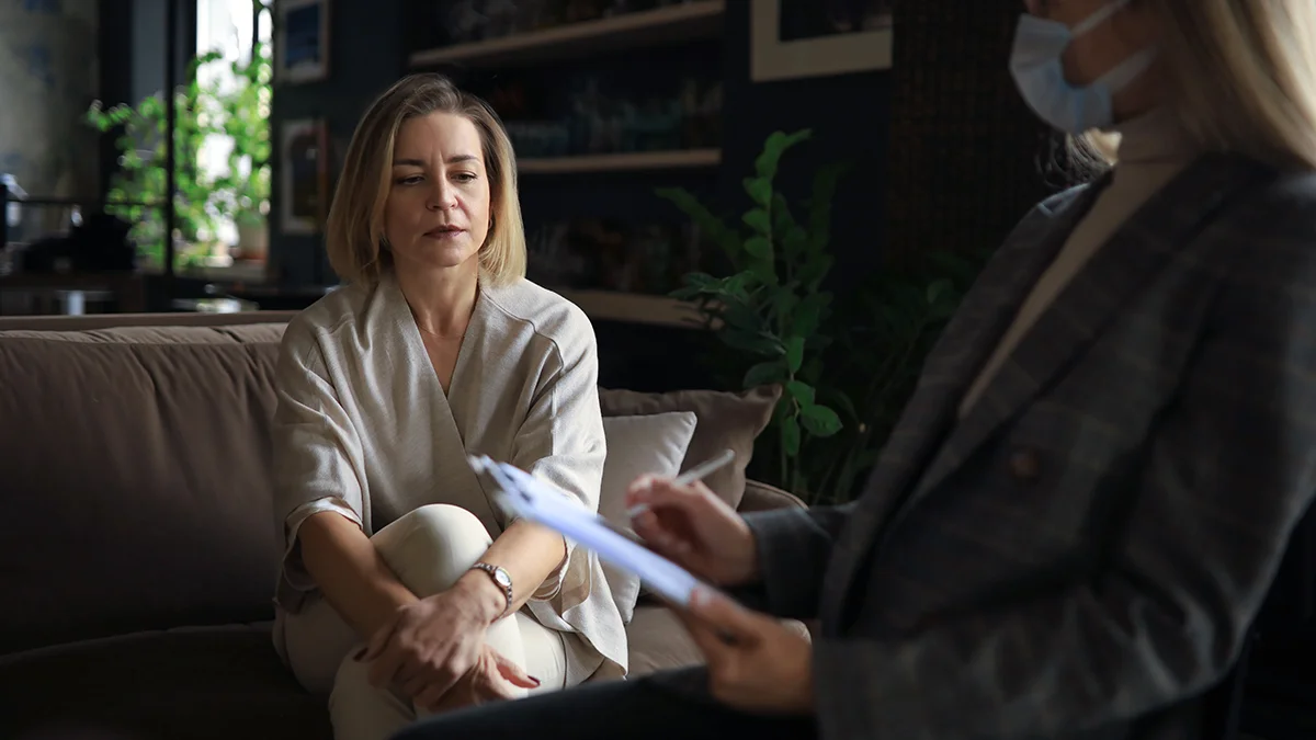
[[[1203,157],[1138,209],[1024,334],[946,438],[908,503],[912,506],[936,489],[1036,399],[1100,334],[1120,307],[1152,280],[1180,246],[1191,242],[1232,195],[1252,182],[1249,172],[1259,170],[1232,158]],[[1070,229],[1058,228],[1057,232],[1059,241],[1065,241]],[[1032,284],[1013,287],[1021,288],[1019,302],[1023,302]],[[974,359],[973,373],[976,373],[984,357]],[[954,402],[958,404],[959,399],[957,392]]]

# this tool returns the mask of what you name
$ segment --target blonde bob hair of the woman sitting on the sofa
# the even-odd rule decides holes
[[[482,278],[494,284],[525,277],[525,226],[516,191],[516,154],[497,113],[437,74],[409,75],[371,103],[351,136],[333,204],[325,250],[345,282],[375,283],[391,259],[384,208],[392,187],[393,145],[403,121],[451,113],[475,124],[490,180],[492,225],[480,246]]]

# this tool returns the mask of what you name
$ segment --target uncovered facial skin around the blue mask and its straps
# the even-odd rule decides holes
[[[1025,9],[1049,21],[1074,28],[1113,0],[1025,0]],[[1079,36],[1065,50],[1061,63],[1065,82],[1083,87],[1096,82],[1116,65],[1155,43],[1157,33],[1145,3],[1133,0],[1113,16]],[[1142,75],[1112,100],[1115,112],[1134,112],[1154,104],[1154,75]]]

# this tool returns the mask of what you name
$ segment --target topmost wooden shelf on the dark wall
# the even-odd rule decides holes
[[[717,36],[726,0],[697,0],[503,38],[441,46],[411,55],[412,67],[524,65],[600,51],[661,46]]]

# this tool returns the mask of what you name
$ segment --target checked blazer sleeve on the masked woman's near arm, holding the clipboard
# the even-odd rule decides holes
[[[1316,483],[1316,257],[1303,259],[1294,277],[1221,287],[1099,577],[908,639],[816,640],[822,736],[1070,736],[1219,681]]]

